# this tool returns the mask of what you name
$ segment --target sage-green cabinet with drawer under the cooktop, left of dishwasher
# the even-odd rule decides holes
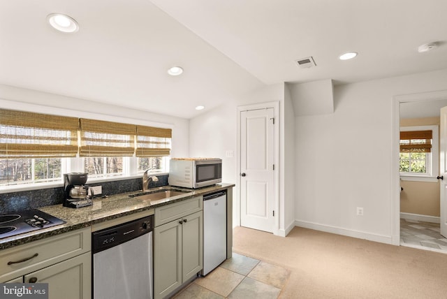
[[[0,251],[0,281],[48,283],[50,299],[91,298],[91,228]]]

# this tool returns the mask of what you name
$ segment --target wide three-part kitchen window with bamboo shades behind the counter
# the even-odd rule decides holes
[[[170,138],[171,129],[0,109],[0,186],[163,173]]]

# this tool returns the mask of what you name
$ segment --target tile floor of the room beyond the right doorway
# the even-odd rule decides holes
[[[447,253],[447,239],[439,233],[439,224],[430,222],[400,219],[400,245]]]

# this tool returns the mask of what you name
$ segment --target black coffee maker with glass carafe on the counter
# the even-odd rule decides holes
[[[88,173],[64,173],[64,207],[93,205],[93,189],[85,186],[87,177]]]

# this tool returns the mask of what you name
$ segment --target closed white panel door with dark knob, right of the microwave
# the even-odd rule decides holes
[[[274,109],[240,115],[241,226],[273,232]]]

